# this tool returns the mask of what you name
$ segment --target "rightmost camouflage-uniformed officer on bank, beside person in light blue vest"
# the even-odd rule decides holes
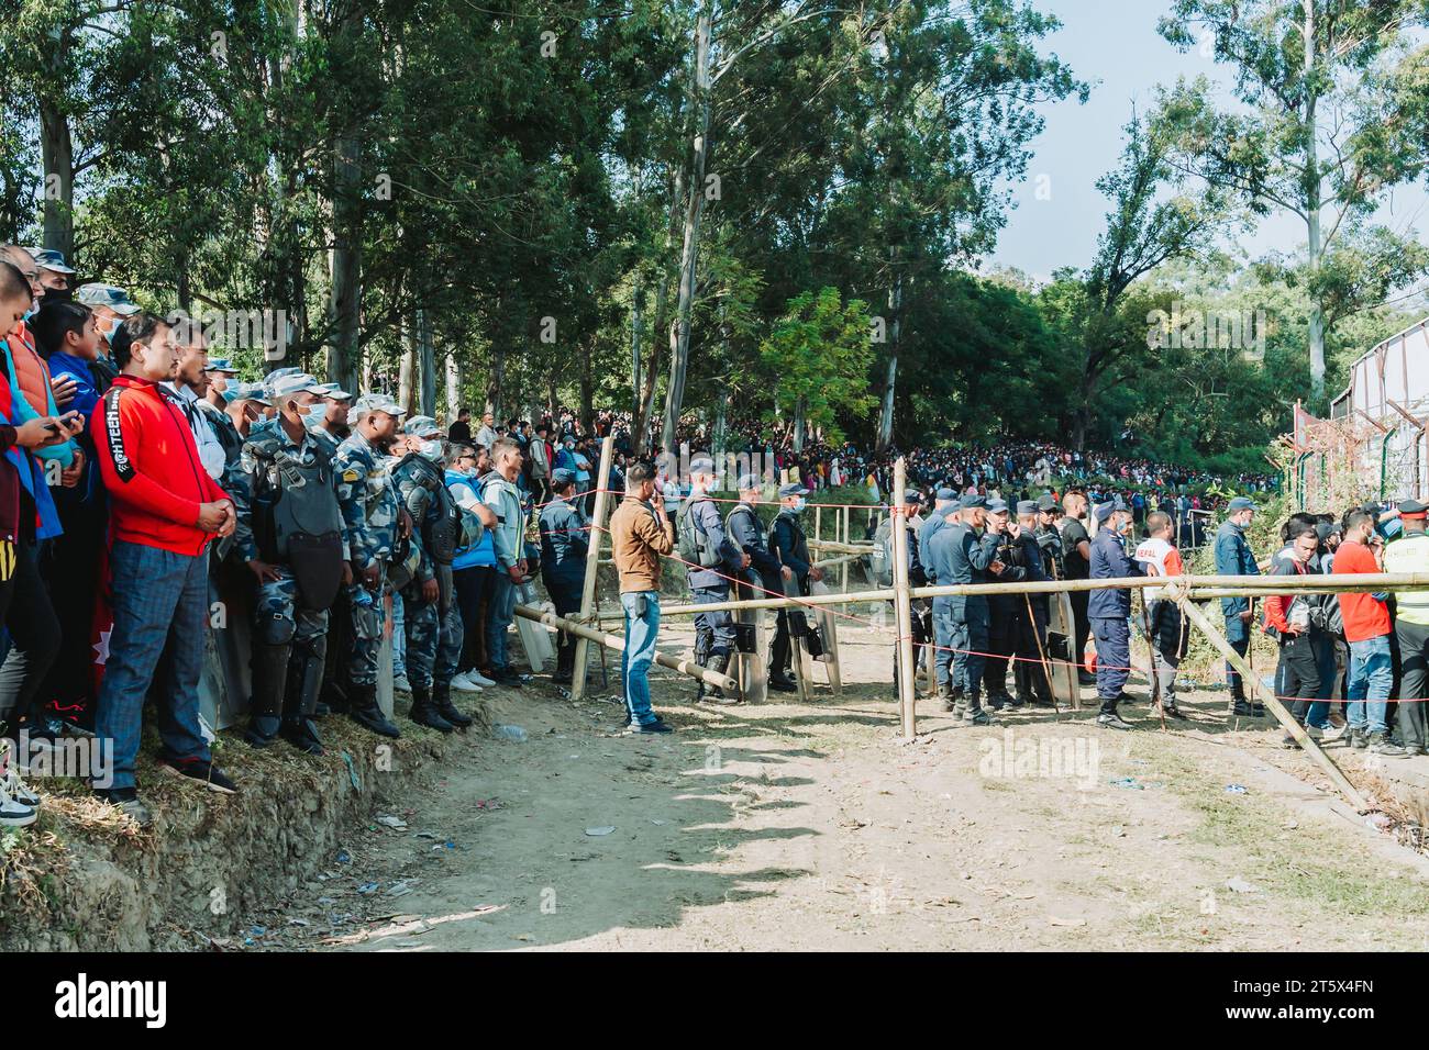
[[[466,539],[462,509],[446,487],[442,427],[430,416],[413,416],[402,427],[407,454],[393,471],[397,499],[412,514],[417,571],[402,593],[407,634],[410,717],[419,726],[450,733],[472,717],[452,703],[452,679],[462,660],[462,614],[452,583],[452,561]]]

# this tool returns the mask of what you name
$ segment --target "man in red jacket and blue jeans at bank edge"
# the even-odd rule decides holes
[[[96,709],[96,731],[113,741],[113,776],[96,790],[146,824],[134,759],[144,694],[161,657],[160,767],[214,791],[236,790],[203,739],[199,676],[209,630],[206,550],[209,540],[231,534],[237,519],[204,471],[183,410],[160,386],[179,361],[170,326],[146,313],[130,317],[116,333],[114,357],[121,374],[90,419],[110,496],[114,611]]]

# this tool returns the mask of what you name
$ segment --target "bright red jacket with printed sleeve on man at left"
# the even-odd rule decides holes
[[[113,540],[201,554],[214,534],[199,527],[199,504],[229,496],[204,471],[189,420],[164,389],[119,376],[94,406],[90,436]]]

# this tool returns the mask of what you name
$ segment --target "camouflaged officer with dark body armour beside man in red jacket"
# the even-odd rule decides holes
[[[299,750],[322,754],[313,714],[329,609],[337,587],[352,581],[333,470],[337,446],[316,427],[326,410],[317,380],[293,373],[272,390],[279,414],[249,431],[240,457],[244,483],[231,491],[236,550],[259,580],[244,736],[267,747],[282,731]]]

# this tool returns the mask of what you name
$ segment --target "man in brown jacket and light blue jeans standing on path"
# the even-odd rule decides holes
[[[669,733],[650,709],[650,664],[660,633],[660,559],[674,550],[674,526],[654,497],[654,467],[636,463],[626,474],[626,497],[610,516],[610,553],[620,576],[626,644],[620,657],[626,726],[632,733]]]

